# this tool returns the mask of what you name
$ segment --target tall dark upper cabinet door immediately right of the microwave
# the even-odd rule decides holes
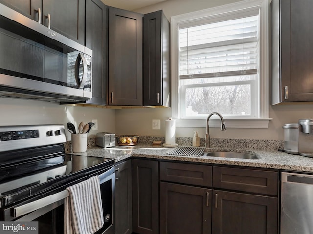
[[[108,7],[100,0],[86,0],[86,47],[92,50],[92,98],[89,104],[107,103]]]

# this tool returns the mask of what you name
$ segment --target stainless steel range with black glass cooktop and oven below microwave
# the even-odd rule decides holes
[[[100,178],[105,224],[114,233],[112,159],[66,155],[63,125],[0,127],[0,220],[38,221],[39,233],[64,233],[66,188]]]

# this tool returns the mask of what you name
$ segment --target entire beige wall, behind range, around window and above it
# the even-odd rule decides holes
[[[208,7],[226,4],[232,0],[169,0],[158,5],[138,9],[146,13],[164,9],[168,18],[189,11],[201,10]],[[165,136],[165,120],[171,117],[170,108],[145,108],[110,110],[91,107],[74,107],[39,102],[0,98],[0,125],[23,124],[65,124],[68,121],[79,123],[98,119],[99,129],[91,131],[89,137],[97,132],[116,132],[117,134],[138,134],[141,136]],[[269,117],[273,118],[268,129],[228,129],[220,131],[211,129],[211,137],[217,138],[251,138],[251,139],[284,139],[282,125],[297,122],[300,118],[313,118],[313,105],[281,105],[271,106]],[[161,120],[161,129],[152,130],[152,119]],[[203,120],[205,121],[205,120]],[[177,128],[177,137],[192,137],[194,130],[198,130],[200,137],[205,129]],[[67,132],[67,139],[70,140]]]

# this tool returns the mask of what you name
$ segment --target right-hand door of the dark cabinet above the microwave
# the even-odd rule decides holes
[[[42,0],[42,24],[69,39],[85,44],[85,0]]]

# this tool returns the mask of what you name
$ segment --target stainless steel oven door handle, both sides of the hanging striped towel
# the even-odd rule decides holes
[[[110,179],[115,180],[115,169],[114,169],[114,167],[108,169],[107,171],[105,171],[99,175],[100,184],[102,184],[105,181],[108,181]],[[43,208],[47,205],[50,205],[50,204],[53,204],[53,203],[58,202],[60,200],[63,200],[67,196],[69,196],[68,191],[63,190],[59,193],[40,198],[36,201],[32,201],[32,202],[29,202],[27,204],[12,208],[11,209],[11,216],[14,218],[17,218],[17,217],[20,217],[22,215],[26,215],[30,212],[33,212],[33,211],[38,210],[40,208]]]

